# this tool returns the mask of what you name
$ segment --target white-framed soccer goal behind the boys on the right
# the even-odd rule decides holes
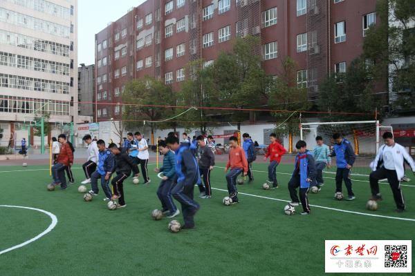
[[[340,133],[351,142],[356,154],[356,161],[351,171],[352,175],[368,177],[371,169],[369,165],[376,157],[383,132],[393,132],[391,126],[381,126],[379,121],[330,121],[308,122],[300,125],[300,138],[308,141],[307,144],[315,145],[315,137],[321,136],[324,143],[333,148],[333,133]],[[310,148],[314,148],[311,146]],[[331,161],[332,167],[325,172],[335,173],[335,160]]]

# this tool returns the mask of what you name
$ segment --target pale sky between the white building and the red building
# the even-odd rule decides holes
[[[94,63],[95,34],[145,0],[78,0],[78,63]]]

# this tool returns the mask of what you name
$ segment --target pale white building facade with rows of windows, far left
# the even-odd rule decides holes
[[[77,0],[1,0],[3,140],[20,140],[33,132],[22,128],[46,112],[50,124],[76,121],[76,78]]]

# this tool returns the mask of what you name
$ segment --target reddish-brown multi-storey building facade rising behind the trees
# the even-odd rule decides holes
[[[329,72],[362,54],[375,10],[376,0],[148,0],[95,34],[95,118],[120,119],[127,81],[149,75],[179,90],[189,61],[208,66],[248,34],[261,39],[255,54],[268,75],[292,57],[297,85],[315,99]]]

